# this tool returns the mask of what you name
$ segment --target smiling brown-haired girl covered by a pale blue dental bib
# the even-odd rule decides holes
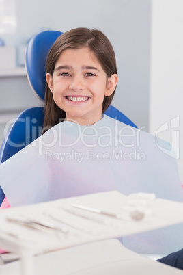
[[[175,159],[158,148],[169,144],[102,115],[116,86],[115,53],[101,31],[78,28],[57,38],[46,60],[44,134],[0,166],[11,206],[113,189],[182,201]],[[124,243],[164,254],[180,244],[177,236],[165,228]]]

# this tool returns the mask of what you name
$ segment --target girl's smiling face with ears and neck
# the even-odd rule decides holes
[[[93,125],[102,118],[104,96],[110,96],[117,75],[110,78],[88,48],[66,49],[55,64],[53,76],[46,75],[53,100],[66,112],[66,120]]]

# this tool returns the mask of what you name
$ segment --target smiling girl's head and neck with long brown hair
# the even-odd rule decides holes
[[[60,36],[48,53],[46,70],[44,131],[56,125],[61,118],[64,120],[74,116],[77,121],[77,116],[82,116],[77,121],[80,125],[93,125],[102,118],[117,85],[115,53],[102,32],[79,28]],[[83,83],[79,83],[79,77]],[[55,91],[55,85],[59,89],[63,86],[63,94]],[[70,95],[74,100],[67,99]],[[69,113],[68,108],[72,109],[73,114]],[[85,114],[85,109],[88,109],[88,114]],[[76,114],[74,110],[77,110]]]

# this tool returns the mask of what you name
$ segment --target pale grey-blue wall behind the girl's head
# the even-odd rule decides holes
[[[74,27],[96,27],[104,31],[115,49],[119,70],[119,84],[113,105],[139,127],[145,126],[147,130],[150,2],[150,0],[16,0],[17,32],[1,38],[7,44],[17,46],[27,42],[42,27],[59,31],[67,31]],[[0,101],[3,96],[0,90]]]

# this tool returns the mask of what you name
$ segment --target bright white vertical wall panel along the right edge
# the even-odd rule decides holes
[[[150,133],[173,144],[183,183],[182,14],[182,0],[152,1]]]

